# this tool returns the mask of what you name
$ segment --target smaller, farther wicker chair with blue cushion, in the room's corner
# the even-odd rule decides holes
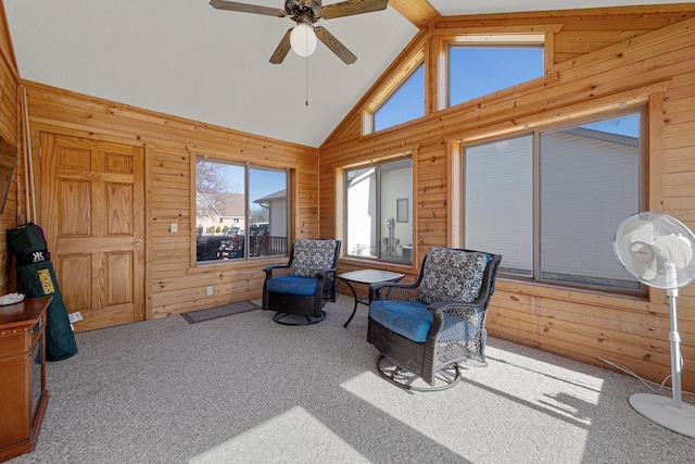
[[[326,318],[324,304],[336,301],[340,243],[340,240],[298,239],[287,264],[263,269],[263,309],[277,311],[275,322],[306,325]]]

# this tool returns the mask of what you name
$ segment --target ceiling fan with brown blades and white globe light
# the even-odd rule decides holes
[[[294,21],[296,26],[291,27],[285,33],[280,43],[270,57],[270,63],[273,64],[282,63],[290,48],[300,57],[311,55],[314,50],[316,50],[317,38],[345,64],[352,64],[357,60],[357,57],[348,50],[348,48],[325,27],[314,26],[314,23],[321,17],[331,20],[333,17],[386,10],[389,5],[389,0],[348,0],[327,4],[326,7],[321,5],[321,0],[287,0],[285,2],[285,10],[226,0],[211,0],[210,4],[217,10],[289,17]]]

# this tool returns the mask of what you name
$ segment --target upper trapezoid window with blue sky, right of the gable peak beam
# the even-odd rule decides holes
[[[543,76],[543,36],[513,37],[448,45],[448,106]]]

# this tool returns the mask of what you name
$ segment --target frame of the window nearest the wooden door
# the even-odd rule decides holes
[[[279,165],[261,165],[261,164],[252,164],[248,161],[238,161],[238,160],[233,160],[230,159],[229,156],[225,155],[224,153],[217,153],[215,151],[212,150],[192,150],[189,148],[189,153],[190,153],[190,172],[191,172],[191,176],[190,176],[190,192],[191,192],[191,246],[190,246],[190,260],[191,260],[191,264],[190,267],[192,271],[195,271],[197,268],[207,268],[211,265],[215,265],[215,266],[219,266],[219,265],[244,265],[244,264],[249,264],[252,262],[256,262],[258,260],[268,260],[268,259],[277,259],[277,258],[287,258],[290,254],[290,248],[291,248],[291,243],[293,240],[293,221],[294,221],[294,214],[293,214],[293,204],[294,204],[294,183],[293,183],[293,176],[294,176],[294,170],[292,167],[289,166],[285,166],[281,167]],[[264,256],[250,256],[249,253],[249,240],[244,240],[244,254],[243,258],[240,259],[228,259],[228,260],[207,260],[207,261],[198,261],[197,258],[197,252],[198,252],[198,246],[197,246],[197,236],[198,236],[198,230],[197,230],[197,162],[199,160],[206,160],[206,161],[211,161],[211,162],[215,162],[215,163],[222,163],[222,164],[228,164],[228,165],[232,165],[232,166],[240,166],[244,168],[244,173],[243,173],[243,196],[244,196],[244,235],[248,237],[249,235],[249,228],[250,225],[252,224],[250,222],[251,218],[251,213],[250,213],[250,208],[249,208],[249,201],[250,201],[250,196],[249,196],[249,186],[250,186],[250,172],[251,170],[261,170],[261,171],[275,171],[278,173],[285,173],[286,176],[286,190],[287,190],[287,248],[286,248],[286,252],[285,254],[273,254],[273,255],[264,255]],[[238,224],[238,221],[232,221],[235,224]]]

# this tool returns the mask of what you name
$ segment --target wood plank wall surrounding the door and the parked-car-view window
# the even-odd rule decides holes
[[[296,237],[318,234],[318,151],[266,137],[159,114],[23,80],[27,89],[35,166],[40,133],[142,146],[146,149],[148,318],[261,298],[263,267],[287,259],[191,267],[191,156],[211,153],[254,166],[288,167],[295,185]],[[36,173],[37,186],[41,173]],[[38,187],[37,187],[38,188]],[[178,223],[178,234],[169,233]],[[40,218],[39,218],[40,224]],[[213,286],[214,294],[205,296]]]

